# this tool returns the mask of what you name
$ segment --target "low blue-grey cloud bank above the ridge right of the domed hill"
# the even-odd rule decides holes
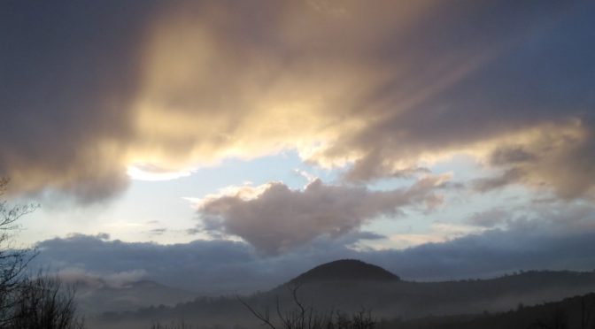
[[[589,243],[593,237],[592,232],[560,236],[493,230],[367,256],[411,279],[486,278],[519,270],[591,271],[595,268],[595,250]]]

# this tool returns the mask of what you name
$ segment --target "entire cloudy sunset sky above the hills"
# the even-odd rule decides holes
[[[409,279],[591,271],[594,14],[4,1],[0,176],[40,205],[14,239],[64,273],[209,293],[340,257]]]

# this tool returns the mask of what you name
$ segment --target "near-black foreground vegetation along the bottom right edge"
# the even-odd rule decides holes
[[[298,301],[297,301],[298,302]],[[595,294],[566,298],[559,302],[545,302],[534,306],[518,305],[516,310],[495,314],[483,313],[444,317],[426,317],[410,320],[378,319],[369,311],[351,316],[336,312],[322,315],[316,310],[298,308],[274,315],[267,310],[260,312],[246,307],[261,325],[270,329],[595,329]],[[312,312],[312,313],[311,313]],[[321,319],[321,321],[316,320]],[[257,326],[235,325],[236,329]],[[172,322],[167,325],[155,323],[151,329],[220,329],[223,326],[189,325]]]

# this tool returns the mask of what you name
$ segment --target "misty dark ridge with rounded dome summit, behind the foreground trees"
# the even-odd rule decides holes
[[[255,310],[265,314],[268,310],[272,317],[279,312],[296,312],[298,299],[307,310],[317,314],[328,314],[331,310],[354,314],[364,309],[371,310],[375,318],[401,318],[413,323],[415,319],[429,317],[440,321],[460,319],[460,315],[465,315],[462,318],[467,321],[469,315],[506,312],[520,303],[537,305],[591,292],[595,292],[595,272],[530,271],[495,279],[415,282],[399,279],[373,264],[339,260],[314,267],[270,291],[238,298]],[[203,297],[175,307],[112,313],[97,318],[94,323],[97,326],[89,327],[142,328],[155,319],[162,323],[184,319],[186,323],[205,326],[259,327],[259,321],[238,298]]]

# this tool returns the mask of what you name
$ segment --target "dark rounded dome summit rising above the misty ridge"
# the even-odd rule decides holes
[[[291,279],[290,285],[303,285],[313,282],[328,281],[398,281],[397,275],[384,270],[380,266],[367,264],[356,259],[341,259],[321,264],[312,270]]]

